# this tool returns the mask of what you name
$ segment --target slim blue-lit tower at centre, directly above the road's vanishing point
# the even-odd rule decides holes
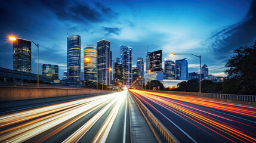
[[[130,86],[132,83],[132,47],[120,45],[120,49],[123,67],[123,85]]]

